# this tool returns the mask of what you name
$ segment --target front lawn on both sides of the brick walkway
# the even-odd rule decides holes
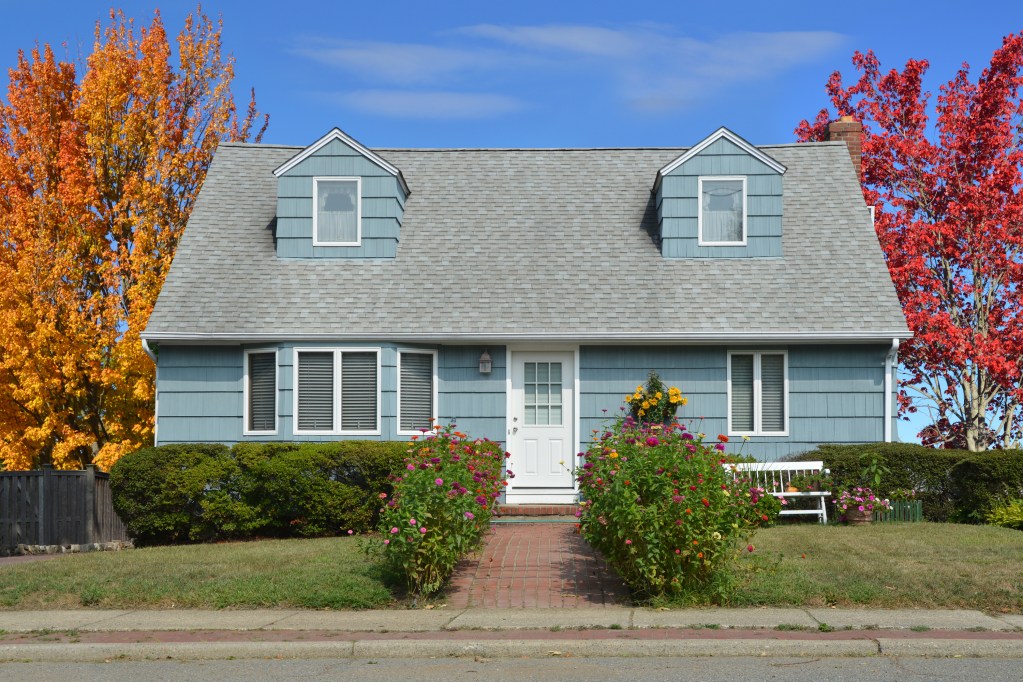
[[[946,524],[760,531],[731,605],[1023,612],[1023,533]],[[0,608],[402,606],[358,539],[263,540],[94,552],[0,566]],[[805,558],[803,555],[805,554]]]

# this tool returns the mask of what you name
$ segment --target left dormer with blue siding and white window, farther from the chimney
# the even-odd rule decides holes
[[[335,128],[273,172],[278,258],[394,258],[408,185]]]

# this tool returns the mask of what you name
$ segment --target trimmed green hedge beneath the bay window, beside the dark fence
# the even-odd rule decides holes
[[[110,470],[114,509],[143,545],[365,531],[407,451],[376,441],[145,448]]]

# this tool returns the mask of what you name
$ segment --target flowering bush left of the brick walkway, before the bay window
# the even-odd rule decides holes
[[[470,441],[453,425],[408,448],[381,510],[384,539],[376,547],[413,597],[439,590],[458,560],[480,546],[503,488],[505,457],[499,444]]]

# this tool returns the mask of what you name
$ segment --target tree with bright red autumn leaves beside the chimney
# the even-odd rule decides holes
[[[964,63],[929,116],[926,60],[882,73],[856,52],[859,79],[839,72],[821,109],[796,129],[828,139],[828,125],[863,125],[863,195],[914,332],[900,349],[907,380],[900,412],[927,409],[932,445],[970,450],[1020,441],[1023,355],[1023,34],[1003,39],[972,80]]]

